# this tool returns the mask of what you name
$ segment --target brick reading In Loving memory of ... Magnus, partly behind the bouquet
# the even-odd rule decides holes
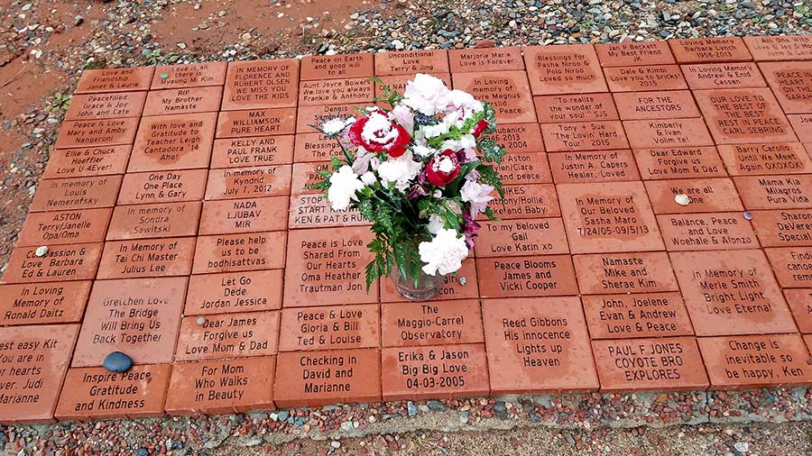
[[[489,103],[499,123],[536,122],[530,85],[524,71],[457,73],[454,88]]]

